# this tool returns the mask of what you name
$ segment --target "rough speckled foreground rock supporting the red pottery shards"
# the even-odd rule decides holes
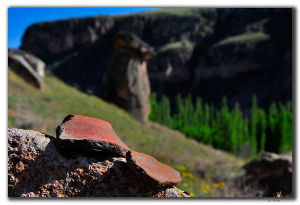
[[[174,187],[153,188],[133,173],[124,157],[70,149],[54,137],[8,129],[9,197],[188,197]]]

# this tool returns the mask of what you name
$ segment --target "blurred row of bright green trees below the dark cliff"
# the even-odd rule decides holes
[[[271,104],[268,112],[257,107],[252,99],[250,117],[244,117],[239,104],[229,110],[223,98],[221,108],[202,103],[201,98],[193,104],[191,96],[176,99],[176,111],[171,115],[170,102],[166,96],[157,103],[151,95],[149,119],[179,130],[197,141],[209,144],[244,158],[255,157],[263,150],[284,153],[292,151],[292,103],[288,101]]]

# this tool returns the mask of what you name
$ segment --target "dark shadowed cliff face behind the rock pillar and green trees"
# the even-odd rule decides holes
[[[216,105],[226,95],[246,112],[253,93],[262,107],[291,99],[292,9],[163,11],[35,24],[22,49],[68,84],[106,99],[112,38],[124,30],[155,48],[148,61],[151,91],[171,97],[171,105],[176,94],[188,92]]]

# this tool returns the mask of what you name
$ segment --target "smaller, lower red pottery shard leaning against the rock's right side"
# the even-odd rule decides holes
[[[126,154],[126,161],[133,172],[153,187],[177,186],[182,180],[173,168],[147,154],[130,150]]]

